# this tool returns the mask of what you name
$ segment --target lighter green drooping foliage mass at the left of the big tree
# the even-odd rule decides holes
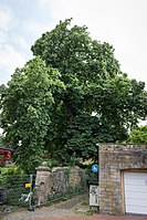
[[[25,170],[33,170],[44,155],[43,138],[51,123],[53,92],[63,87],[56,70],[40,59],[17,69],[6,88],[1,124],[7,140],[14,146],[15,159]],[[60,88],[59,88],[60,91]]]

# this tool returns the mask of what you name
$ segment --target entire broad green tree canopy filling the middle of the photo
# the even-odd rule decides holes
[[[21,140],[19,161],[27,146],[30,158],[41,149],[62,163],[94,158],[96,143],[126,139],[147,116],[145,83],[122,73],[112,45],[70,24],[36,40],[36,59],[15,71],[1,96],[1,126],[12,144]]]

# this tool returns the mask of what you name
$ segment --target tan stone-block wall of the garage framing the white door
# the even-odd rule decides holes
[[[147,145],[99,146],[99,211],[124,214],[123,174],[147,170]]]

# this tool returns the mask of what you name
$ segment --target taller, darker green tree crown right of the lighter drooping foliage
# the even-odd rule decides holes
[[[126,139],[127,129],[147,115],[145,83],[120,72],[113,46],[92,40],[86,27],[70,24],[61,22],[32,46],[34,55],[60,71],[65,85],[54,96],[45,143],[52,157],[67,163],[97,156],[96,143]]]

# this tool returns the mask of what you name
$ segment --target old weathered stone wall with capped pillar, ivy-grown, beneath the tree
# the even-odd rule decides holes
[[[49,203],[49,198],[53,195],[64,193],[70,188],[86,185],[85,171],[78,167],[57,167],[50,169],[48,167],[36,168],[35,198],[36,205]]]

